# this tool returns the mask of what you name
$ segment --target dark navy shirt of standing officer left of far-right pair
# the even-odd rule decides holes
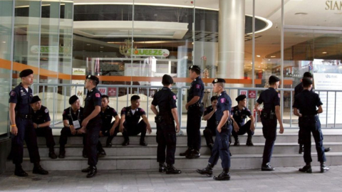
[[[265,112],[275,112],[276,106],[280,106],[280,93],[276,92],[276,90],[272,87],[269,87],[267,90],[261,92],[257,102],[259,104],[264,103],[264,111]]]

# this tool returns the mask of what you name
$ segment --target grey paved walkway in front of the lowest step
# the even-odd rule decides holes
[[[27,178],[1,174],[0,191],[342,191],[342,166],[331,166],[324,174],[318,172],[318,166],[313,167],[313,174],[297,170],[233,170],[231,181],[214,181],[195,170],[171,176],[157,171],[99,171],[95,178],[86,178],[81,171],[50,171],[48,176],[30,171]]]

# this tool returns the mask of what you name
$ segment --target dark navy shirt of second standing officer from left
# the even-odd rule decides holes
[[[95,110],[95,106],[101,106],[101,93],[96,87],[93,90],[88,91],[86,97],[86,104],[84,105],[84,117],[87,118],[89,114]],[[91,120],[100,119],[101,115],[98,113],[96,117]]]

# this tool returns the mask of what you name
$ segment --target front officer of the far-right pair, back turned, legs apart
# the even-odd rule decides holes
[[[318,161],[321,162],[321,173],[328,171],[329,167],[324,164],[326,155],[324,154],[323,134],[321,132],[321,122],[317,114],[323,112],[321,99],[318,94],[311,92],[312,80],[303,78],[304,90],[296,95],[294,100],[294,114],[299,118],[300,137],[304,144],[304,161],[306,165],[299,169],[301,172],[312,173],[311,169],[311,132],[316,143]],[[318,107],[318,110],[316,110]],[[299,112],[298,112],[299,110]]]

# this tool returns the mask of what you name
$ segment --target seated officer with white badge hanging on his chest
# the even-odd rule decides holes
[[[66,142],[68,137],[78,136],[83,137],[83,157],[88,158],[86,150],[86,134],[78,132],[81,129],[83,122],[83,107],[81,107],[80,100],[76,95],[69,98],[70,107],[63,111],[63,129],[61,130],[61,137],[59,137],[59,158],[66,157]]]

